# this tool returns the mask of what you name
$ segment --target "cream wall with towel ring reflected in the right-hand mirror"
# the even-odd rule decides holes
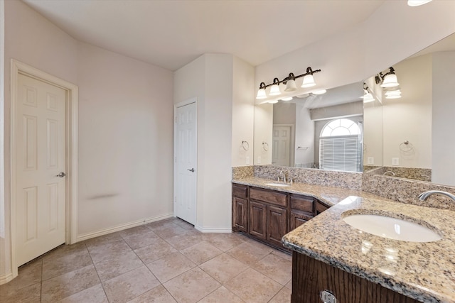
[[[432,56],[423,55],[393,66],[402,92],[400,99],[382,98],[384,165],[392,158],[401,167],[432,167]],[[413,149],[403,152],[409,141]]]

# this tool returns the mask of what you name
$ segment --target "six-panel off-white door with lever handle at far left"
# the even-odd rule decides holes
[[[18,75],[16,264],[65,243],[64,89]]]

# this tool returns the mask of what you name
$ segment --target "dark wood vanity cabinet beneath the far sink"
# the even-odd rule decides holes
[[[232,184],[232,231],[282,250],[282,237],[328,208],[317,199],[272,189]],[[288,250],[289,251],[289,250]]]

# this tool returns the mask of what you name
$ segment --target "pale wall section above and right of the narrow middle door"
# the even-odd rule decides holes
[[[235,67],[232,55],[205,54],[174,73],[174,104],[198,98],[196,228],[200,231],[231,229],[232,121],[237,119],[232,106],[242,103],[233,101]]]

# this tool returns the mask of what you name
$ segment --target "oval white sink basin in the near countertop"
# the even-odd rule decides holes
[[[350,214],[343,217],[350,226],[373,233],[375,236],[409,242],[433,242],[441,240],[436,231],[410,221],[375,214]]]

